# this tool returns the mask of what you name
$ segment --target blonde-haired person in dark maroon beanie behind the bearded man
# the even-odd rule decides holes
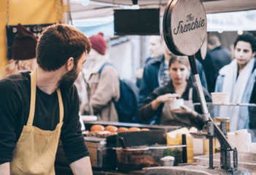
[[[36,59],[37,37],[20,23],[18,34],[12,45],[12,60],[4,68],[3,78],[20,71],[32,71],[37,66]]]

